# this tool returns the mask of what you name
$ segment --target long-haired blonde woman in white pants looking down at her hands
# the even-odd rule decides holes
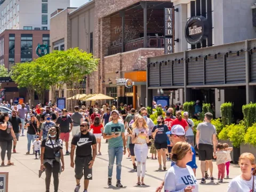
[[[148,125],[142,116],[138,116],[132,124],[132,143],[134,143],[134,154],[137,159],[137,185],[145,185],[146,160],[148,155]],[[142,170],[141,170],[142,167]],[[141,182],[140,182],[141,176]]]

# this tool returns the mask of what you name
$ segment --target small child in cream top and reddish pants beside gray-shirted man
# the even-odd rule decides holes
[[[216,164],[218,165],[218,180],[223,182],[224,174],[225,174],[225,162],[227,161],[227,152],[223,151],[223,144],[218,143],[217,151],[213,154],[216,159]]]

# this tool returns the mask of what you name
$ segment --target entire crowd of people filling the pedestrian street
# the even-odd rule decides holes
[[[123,103],[118,109],[108,104],[98,107],[97,103],[89,108],[75,106],[74,111],[69,114],[67,109],[62,109],[60,114],[55,103],[44,108],[38,104],[35,110],[30,110],[22,103],[19,109],[17,105],[12,107],[10,117],[8,113],[2,113],[1,165],[5,165],[6,151],[7,165],[13,165],[11,152],[13,150],[13,153],[17,153],[17,141],[24,135],[24,129],[28,129],[26,154],[30,154],[32,143],[33,154],[41,161],[41,174],[46,174],[46,192],[50,191],[52,175],[54,192],[58,191],[59,174],[65,170],[63,143],[66,155],[70,155],[70,166],[75,168],[74,191],[79,191],[84,176],[83,191],[87,192],[89,181],[93,178],[92,167],[95,158],[101,155],[102,137],[108,143],[109,186],[113,183],[113,165],[116,161],[116,187],[123,187],[122,159],[126,152],[131,157],[132,168],[137,171],[138,186],[146,185],[146,162],[150,158],[148,152],[151,153],[152,159],[158,159],[158,170],[167,170],[169,166],[166,163],[171,161],[171,167],[156,191],[199,191],[199,183],[195,176],[196,151],[201,162],[202,184],[206,183],[207,178],[214,182],[213,158],[216,159],[218,166],[218,181],[223,182],[225,176],[229,178],[230,151],[233,148],[227,143],[218,142],[216,128],[211,124],[211,113],[204,115],[204,122],[197,125],[197,132],[194,135],[194,122],[189,118],[188,112],[185,111],[182,117],[181,111],[177,111],[174,116],[173,108],[165,108],[166,116],[158,116],[156,125],[143,106],[137,111]],[[69,152],[70,133],[72,139]],[[239,165],[242,174],[230,182],[228,192],[253,191],[256,182],[254,156],[250,153],[242,154]]]

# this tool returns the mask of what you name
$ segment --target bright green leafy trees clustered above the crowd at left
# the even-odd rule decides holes
[[[52,101],[55,102],[65,84],[72,95],[78,94],[85,76],[97,70],[97,66],[98,59],[76,47],[67,51],[53,51],[30,63],[17,63],[12,69],[12,79],[19,87],[35,90],[40,102],[44,102],[45,90],[51,88]],[[32,95],[29,94],[30,99],[34,98]],[[76,98],[73,102],[76,102]]]

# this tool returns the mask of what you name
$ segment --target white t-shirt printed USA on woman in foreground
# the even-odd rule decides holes
[[[165,192],[184,192],[188,186],[193,186],[192,191],[198,192],[198,183],[193,169],[187,165],[186,168],[171,166],[164,178]]]

